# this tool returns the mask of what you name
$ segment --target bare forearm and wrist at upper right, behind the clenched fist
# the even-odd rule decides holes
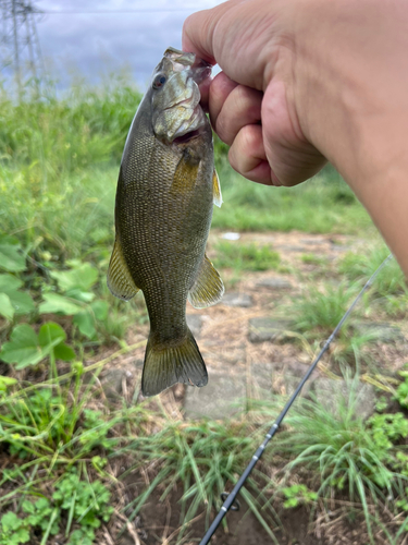
[[[408,275],[408,3],[302,4],[308,17],[299,10],[293,65],[301,131],[364,204]],[[374,39],[364,34],[368,16]]]

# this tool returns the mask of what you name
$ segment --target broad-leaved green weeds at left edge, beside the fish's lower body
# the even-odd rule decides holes
[[[100,287],[99,270],[88,262],[70,259],[66,262],[70,268],[66,269],[42,266],[48,278],[53,280],[53,284],[44,279],[37,279],[37,301],[35,301],[27,291],[21,290],[24,280],[16,276],[20,274],[24,278],[24,276],[29,275],[18,241],[4,235],[0,237],[1,257],[3,257],[3,263],[0,265],[0,269],[5,268],[9,272],[0,274],[0,315],[10,325],[24,316],[32,316],[36,313],[70,316],[74,326],[74,338],[75,334],[79,334],[77,337],[85,337],[90,341],[101,339],[111,342],[123,339],[129,318],[136,322],[147,316],[143,300],[138,299],[135,304],[126,306],[109,293],[104,278],[102,287]],[[42,301],[38,301],[39,291]],[[97,291],[99,293],[96,293]],[[112,313],[108,313],[109,305],[106,299],[112,301]],[[65,332],[61,329],[58,335],[66,338]],[[4,348],[1,351],[4,361],[15,363],[16,368],[23,368],[28,364],[33,365],[41,361],[47,353],[41,350],[41,347],[38,349],[39,343],[35,337],[35,332],[30,330],[28,325],[16,326],[11,331],[14,360],[10,360],[12,358],[10,355],[11,346],[8,344],[5,352]],[[27,349],[30,347],[32,351],[28,354],[27,351],[18,350],[18,347]],[[66,356],[67,349],[62,350],[61,346],[55,358],[67,361]],[[73,356],[71,356],[72,359]]]

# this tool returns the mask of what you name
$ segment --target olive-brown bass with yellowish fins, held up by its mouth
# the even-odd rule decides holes
[[[176,383],[202,387],[206,364],[186,322],[218,303],[224,286],[206,254],[213,204],[221,206],[212,131],[199,84],[211,65],[164,51],[132,122],[116,187],[108,287],[129,301],[140,290],[150,320],[141,392]]]

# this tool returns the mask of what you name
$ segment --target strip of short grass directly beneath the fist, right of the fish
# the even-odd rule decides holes
[[[372,222],[351,190],[332,168],[296,187],[271,187],[248,182],[219,160],[223,205],[212,226],[237,231],[359,233]]]

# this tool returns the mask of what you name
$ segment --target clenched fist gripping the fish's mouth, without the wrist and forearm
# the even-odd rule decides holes
[[[264,184],[295,185],[325,164],[297,112],[296,3],[232,0],[184,25],[183,49],[223,70],[201,94],[232,167]]]

